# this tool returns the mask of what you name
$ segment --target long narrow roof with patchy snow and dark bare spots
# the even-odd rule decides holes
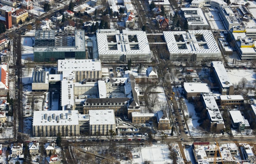
[[[212,92],[202,93],[202,99],[204,100],[205,108],[207,109],[207,112],[209,114],[211,121],[212,122],[219,121],[219,123],[223,122],[222,116],[220,114],[220,110],[215,101],[213,93]]]

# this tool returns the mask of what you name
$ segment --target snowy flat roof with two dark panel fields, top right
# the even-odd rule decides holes
[[[181,8],[188,25],[208,25],[207,20],[201,8]]]

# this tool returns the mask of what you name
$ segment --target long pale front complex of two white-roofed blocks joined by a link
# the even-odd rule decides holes
[[[54,137],[58,133],[66,136],[78,136],[87,132],[94,135],[97,131],[115,131],[113,110],[90,110],[89,114],[79,114],[77,110],[35,111],[33,114],[33,136]]]

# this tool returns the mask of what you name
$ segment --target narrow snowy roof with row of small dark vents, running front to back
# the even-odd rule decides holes
[[[74,106],[74,85],[73,80],[61,81],[61,106]]]

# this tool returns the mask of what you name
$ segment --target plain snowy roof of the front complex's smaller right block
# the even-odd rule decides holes
[[[115,115],[112,109],[89,110],[90,125],[115,124]]]

